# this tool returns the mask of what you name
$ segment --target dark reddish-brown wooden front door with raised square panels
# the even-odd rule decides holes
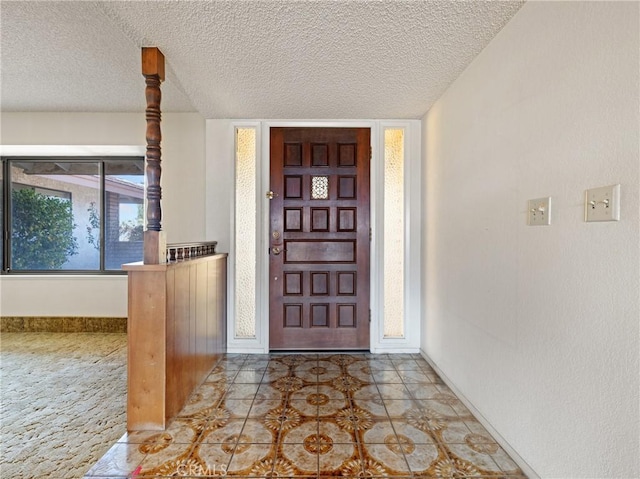
[[[271,349],[369,349],[370,151],[368,128],[271,128]]]

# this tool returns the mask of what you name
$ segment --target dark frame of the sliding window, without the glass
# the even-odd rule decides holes
[[[106,209],[107,209],[107,190],[106,190],[106,179],[108,175],[105,173],[106,168],[105,165],[110,161],[139,161],[142,166],[142,178],[145,179],[144,169],[145,169],[145,158],[144,156],[139,155],[83,155],[83,156],[41,156],[41,155],[2,155],[0,157],[2,163],[2,178],[0,178],[0,185],[2,187],[2,195],[0,195],[1,202],[1,213],[2,213],[2,254],[0,255],[0,275],[42,275],[42,276],[51,276],[51,275],[126,275],[126,271],[121,269],[107,269],[106,266],[106,250],[107,250],[107,241],[106,237],[108,232],[106,231]],[[12,178],[11,178],[11,163],[12,162],[41,162],[41,163],[55,163],[55,162],[66,162],[66,163],[96,163],[98,166],[98,176],[99,176],[99,189],[98,189],[98,198],[99,198],[99,214],[100,214],[100,249],[99,249],[99,267],[98,269],[47,269],[47,270],[16,270],[9,268],[11,262],[11,247],[12,247],[12,198],[11,193],[13,191]],[[22,186],[32,186],[25,185],[24,183],[20,183]],[[37,189],[38,187],[34,187]],[[144,194],[142,198],[142,204],[144,205],[146,202],[146,179],[144,186]],[[70,201],[73,202],[73,193],[69,192]],[[146,226],[146,225],[145,225]],[[142,261],[143,253],[141,252],[139,261]]]

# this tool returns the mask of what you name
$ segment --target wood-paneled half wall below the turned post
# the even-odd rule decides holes
[[[163,430],[226,351],[227,255],[130,263],[127,429]]]

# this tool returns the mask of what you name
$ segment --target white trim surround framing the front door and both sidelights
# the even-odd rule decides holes
[[[207,235],[220,240],[222,249],[230,252],[233,265],[235,217],[235,131],[256,129],[256,335],[235,338],[235,275],[228,275],[227,348],[231,353],[267,353],[269,351],[269,129],[271,127],[370,128],[373,155],[370,164],[370,215],[373,230],[371,242],[371,329],[370,351],[373,353],[417,353],[420,350],[422,323],[421,236],[422,232],[422,122],[420,120],[207,120]],[[384,129],[405,130],[405,334],[403,338],[383,337],[383,171]],[[227,161],[220,161],[228,158]],[[225,192],[227,192],[225,194]],[[220,198],[220,195],[228,197]],[[225,207],[224,205],[228,205]],[[222,207],[222,208],[220,208]],[[226,227],[222,225],[227,225]],[[226,230],[228,228],[228,230]],[[225,231],[226,230],[226,231]],[[221,249],[221,250],[222,250]]]

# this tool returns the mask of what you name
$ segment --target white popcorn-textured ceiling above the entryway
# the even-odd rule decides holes
[[[140,47],[168,63],[164,111],[206,118],[418,118],[521,1],[2,1],[3,111],[142,111]]]

